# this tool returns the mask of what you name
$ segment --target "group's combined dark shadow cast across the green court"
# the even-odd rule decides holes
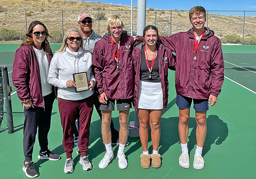
[[[168,105],[167,109],[164,110],[163,114],[170,109],[174,104],[175,104],[176,98],[173,99]],[[193,110],[191,111],[193,112]],[[130,114],[130,120],[133,120],[134,116],[134,111],[131,111]],[[119,124],[118,124],[118,117],[113,118],[113,121],[115,123],[115,128],[119,129]],[[159,153],[163,155],[169,148],[176,144],[177,142],[180,143],[180,138],[179,138],[179,132],[178,132],[178,123],[179,123],[179,117],[169,117],[169,118],[161,118],[161,139],[160,139],[160,148],[159,148]],[[196,145],[196,120],[194,117],[191,117],[189,120],[189,129],[191,131],[189,137],[188,137],[188,149],[189,152],[195,147]],[[149,128],[149,141],[151,141],[150,137],[150,128]],[[223,141],[228,136],[228,127],[227,124],[223,122],[217,115],[209,115],[207,118],[207,135],[206,135],[206,140],[204,143],[204,149],[203,149],[203,154],[204,156],[208,151],[211,149],[212,144],[220,145],[222,144]],[[95,142],[96,141],[96,142]],[[135,143],[133,146],[131,146],[126,152],[125,155],[128,156],[141,148],[141,142],[139,137],[134,137],[134,138],[128,138],[128,141],[130,143]],[[101,136],[101,121],[100,119],[93,121],[90,126],[90,139],[89,139],[89,145],[95,142],[93,146],[91,146],[88,150],[88,155],[90,161],[92,161],[94,158],[96,158],[98,155],[101,153],[105,153],[105,146],[102,142],[102,136]],[[112,146],[114,150],[114,158],[117,156],[117,150],[118,146]],[[152,145],[149,146],[149,151],[152,151]],[[76,147],[74,147],[74,150],[76,150]],[[181,152],[181,151],[180,151]],[[64,152],[64,148],[61,145],[56,147],[54,149],[54,153],[57,153],[58,155],[61,155]],[[79,156],[74,154],[74,168],[76,164],[79,162]],[[37,166],[40,167],[42,163],[44,163],[47,160],[39,160],[37,161]],[[112,161],[111,161],[112,162]],[[92,164],[96,165],[96,164]]]

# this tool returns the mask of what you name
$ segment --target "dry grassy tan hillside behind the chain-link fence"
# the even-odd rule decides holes
[[[95,32],[104,35],[105,24],[107,18],[111,14],[118,14],[123,18],[126,28],[130,30],[131,15],[129,6],[112,5],[104,3],[94,3],[85,1],[62,1],[62,0],[0,0],[0,29],[12,29],[17,32],[26,32],[27,26],[33,20],[40,20],[47,26],[50,32],[64,31],[70,27],[77,27],[77,15],[83,10],[88,12],[94,18],[93,29]],[[154,7],[152,7],[154,8]],[[5,10],[19,9],[19,10]],[[21,9],[28,9],[26,12]],[[37,10],[31,10],[37,9]],[[61,11],[63,9],[64,11]],[[54,10],[54,11],[53,11]],[[98,10],[100,10],[98,12]],[[111,10],[111,11],[109,11]],[[118,10],[118,11],[114,11]],[[133,31],[136,31],[137,12],[136,7],[133,11]],[[26,13],[30,13],[27,14]],[[62,25],[63,13],[63,25]],[[100,17],[98,26],[98,13]],[[170,11],[157,10],[156,20],[160,34],[166,35],[168,32],[168,22],[161,20],[169,20]],[[146,25],[155,24],[155,11],[147,11]],[[256,35],[256,17],[245,17],[245,37]],[[243,36],[243,17],[241,16],[223,16],[216,14],[208,15],[208,27],[215,31],[218,37],[223,37],[228,34]],[[171,33],[177,33],[191,28],[189,24],[188,12],[172,11]],[[57,32],[56,32],[57,33]]]

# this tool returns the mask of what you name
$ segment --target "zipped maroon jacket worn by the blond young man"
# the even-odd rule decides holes
[[[134,73],[132,51],[134,38],[123,31],[120,38],[119,69],[111,50],[111,35],[106,33],[95,43],[92,54],[93,73],[97,82],[98,93],[106,93],[109,99],[129,99],[133,97]],[[137,42],[139,43],[139,42]],[[117,44],[114,43],[117,55]]]

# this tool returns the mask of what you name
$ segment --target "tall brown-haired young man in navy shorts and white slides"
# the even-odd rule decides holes
[[[206,11],[196,6],[189,11],[193,28],[159,40],[176,53],[175,87],[179,107],[179,134],[182,154],[179,164],[189,168],[187,138],[190,107],[193,100],[196,118],[196,150],[193,167],[204,168],[202,150],[206,137],[206,112],[217,102],[224,81],[221,42],[214,32],[204,27]],[[212,102],[211,102],[212,101]],[[208,105],[211,102],[210,105]]]

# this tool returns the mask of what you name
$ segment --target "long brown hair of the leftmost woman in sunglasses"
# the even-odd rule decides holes
[[[25,39],[19,44],[19,47],[23,46],[24,44],[26,44],[26,45],[34,45],[32,33],[33,33],[33,28],[36,25],[43,26],[45,28],[45,31],[47,32],[47,35],[45,36],[45,40],[42,42],[42,45],[41,45],[42,49],[44,50],[44,52],[46,54],[52,53],[49,41],[47,39],[48,37],[51,37],[51,36],[49,35],[48,29],[46,28],[46,26],[43,23],[41,23],[40,21],[38,21],[38,20],[35,20],[32,23],[30,23],[30,25],[28,27],[27,34],[25,36]]]

